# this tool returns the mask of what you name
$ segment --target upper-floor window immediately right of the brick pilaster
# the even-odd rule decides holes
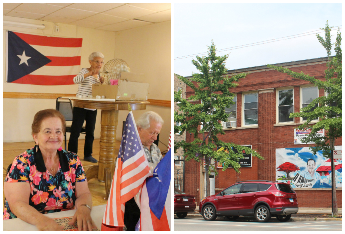
[[[278,122],[293,122],[289,118],[290,113],[294,112],[294,89],[284,89],[278,91]]]

